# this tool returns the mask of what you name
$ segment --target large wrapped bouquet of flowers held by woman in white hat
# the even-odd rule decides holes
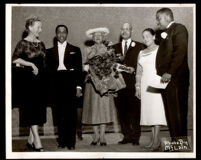
[[[106,43],[101,48],[91,47],[88,56],[89,76],[100,95],[115,93],[126,87],[122,74],[118,69],[129,72],[129,67],[119,64],[123,60],[121,54],[115,54],[114,49]]]

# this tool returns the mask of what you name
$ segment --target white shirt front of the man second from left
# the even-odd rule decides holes
[[[59,67],[57,68],[57,70],[67,70],[65,65],[64,65],[64,54],[65,54],[65,50],[66,50],[66,45],[67,45],[67,42],[63,42],[63,43],[60,43],[58,42],[57,43],[57,46],[58,46],[58,53],[59,53]]]

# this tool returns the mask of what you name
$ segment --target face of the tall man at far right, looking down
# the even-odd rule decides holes
[[[159,12],[156,14],[156,21],[160,29],[165,29],[170,23],[170,18],[166,13]]]

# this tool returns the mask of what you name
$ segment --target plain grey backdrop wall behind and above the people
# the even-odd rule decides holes
[[[193,8],[170,7],[175,21],[186,26],[189,33],[188,62],[191,71],[189,90],[189,126],[193,126]],[[108,27],[108,39],[113,43],[119,41],[120,27],[129,22],[133,25],[132,38],[142,42],[142,31],[155,28],[155,13],[158,7],[13,7],[12,8],[12,51],[21,39],[26,19],[31,15],[42,20],[40,39],[46,48],[53,45],[55,27],[65,24],[69,28],[68,41],[79,46],[84,54],[85,42],[88,40],[85,31],[94,27]]]

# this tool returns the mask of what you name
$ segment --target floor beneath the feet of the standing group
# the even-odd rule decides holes
[[[189,135],[192,135],[192,131],[189,131]],[[144,149],[144,145],[149,143],[150,141],[149,131],[144,131],[141,134],[140,145],[133,146],[132,144],[124,144],[119,145],[118,141],[120,141],[123,136],[120,133],[107,133],[106,140],[107,146],[91,146],[90,143],[92,141],[92,134],[83,134],[83,140],[76,141],[75,150],[73,152],[148,152],[148,150]],[[168,131],[161,131],[160,137],[169,137]],[[57,136],[41,136],[41,141],[44,147],[45,152],[72,152],[67,148],[58,149],[57,147]],[[192,138],[192,137],[191,137]],[[13,152],[31,152],[28,150],[25,145],[27,142],[27,137],[13,137]],[[158,152],[162,152],[159,150]]]

